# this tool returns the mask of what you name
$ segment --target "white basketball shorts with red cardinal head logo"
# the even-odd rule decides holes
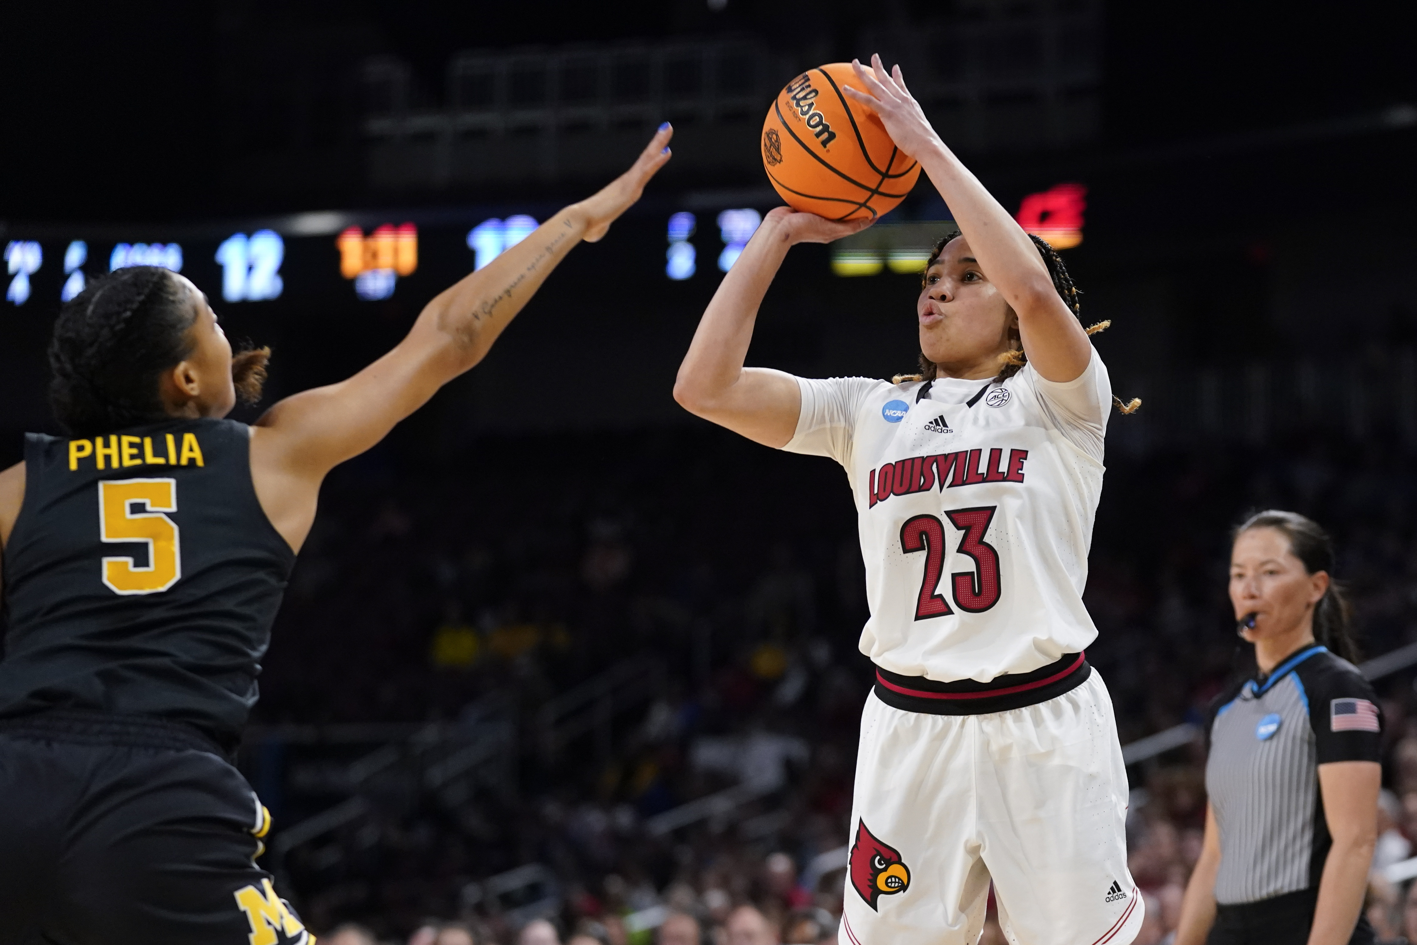
[[[840,945],[973,945],[989,881],[1013,945],[1127,945],[1127,769],[1097,672],[985,714],[862,714]],[[893,677],[900,679],[900,677]]]

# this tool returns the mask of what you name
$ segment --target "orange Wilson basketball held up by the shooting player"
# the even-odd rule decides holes
[[[762,122],[762,166],[794,210],[829,220],[871,220],[894,208],[920,177],[870,108],[849,62],[832,62],[788,82]]]

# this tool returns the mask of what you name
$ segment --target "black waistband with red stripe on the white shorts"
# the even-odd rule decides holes
[[[1077,689],[1091,674],[1087,653],[1064,653],[1056,663],[1030,673],[1005,673],[988,683],[972,679],[937,683],[924,676],[901,676],[877,666],[876,697],[908,713],[983,715],[1046,703]]]

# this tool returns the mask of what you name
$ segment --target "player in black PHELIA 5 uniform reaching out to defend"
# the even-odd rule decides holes
[[[0,945],[312,941],[255,866],[269,817],[228,758],[320,482],[482,360],[639,198],[672,133],[393,351],[254,426],[222,418],[259,364],[234,361],[187,279],[122,269],[64,307],[50,358],[71,436],[31,434],[0,473]]]

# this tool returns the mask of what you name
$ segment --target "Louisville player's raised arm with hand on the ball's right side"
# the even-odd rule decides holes
[[[1017,313],[1029,363],[1050,381],[1077,378],[1087,370],[1093,346],[1058,296],[1033,241],[939,139],[905,88],[898,65],[887,72],[879,55],[871,57],[869,69],[856,61],[852,65],[862,88],[845,86],[843,92],[876,111],[891,140],[920,162],[945,198],[979,268]]]

